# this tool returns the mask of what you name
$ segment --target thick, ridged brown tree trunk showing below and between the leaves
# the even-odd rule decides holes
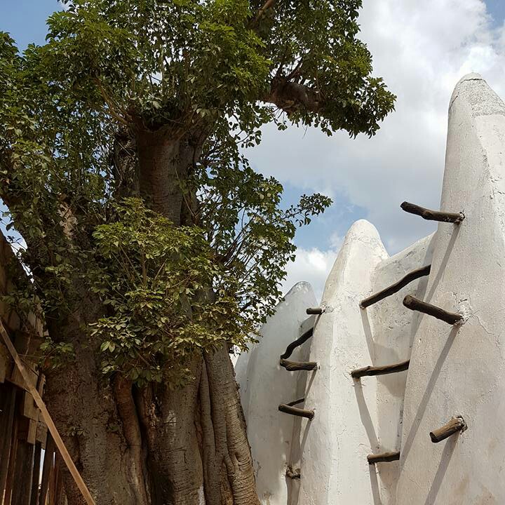
[[[140,192],[176,226],[191,218],[182,187],[201,152],[195,139],[136,133]],[[86,286],[79,290],[86,299]],[[197,354],[192,379],[180,388],[139,390],[121,377],[109,384],[95,355],[99,343],[83,330],[101,309],[74,303],[72,316],[48,328],[55,341],[74,343],[76,360],[48,374],[46,400],[97,505],[259,505],[226,346]],[[83,505],[62,472],[68,504]]]

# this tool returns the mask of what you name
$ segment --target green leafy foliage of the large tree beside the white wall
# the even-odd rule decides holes
[[[0,33],[0,197],[28,245],[23,303],[57,330],[50,366],[91,346],[108,375],[177,384],[195,353],[251,338],[281,297],[297,227],[330,205],[283,208],[281,184],[242,149],[269,122],[374,135],[394,96],[357,39],[360,0],[65,3],[44,46],[20,55]],[[200,139],[180,180],[194,226],[139,198],[139,130]]]

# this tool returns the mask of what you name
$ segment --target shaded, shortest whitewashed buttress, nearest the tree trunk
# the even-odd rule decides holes
[[[278,405],[297,399],[300,376],[299,372],[288,372],[278,363],[288,344],[307,327],[307,323],[304,325],[306,309],[314,305],[316,297],[308,283],[293,286],[278,304],[276,314],[261,328],[260,344],[241,354],[236,363],[262,505],[286,505],[291,499],[292,480],[286,478],[285,473],[292,452],[294,418],[278,412]],[[290,359],[306,361],[309,346],[307,342],[307,346],[295,349]]]

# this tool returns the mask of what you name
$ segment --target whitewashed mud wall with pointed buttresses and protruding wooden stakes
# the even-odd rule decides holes
[[[471,74],[450,101],[440,204],[464,221],[440,222],[392,257],[370,223],[356,222],[328,277],[314,335],[293,357],[317,361],[316,370],[277,365],[314,305],[297,286],[286,297],[297,303],[281,304],[260,344],[238,360],[262,504],[505,504],[504,175],[505,105]],[[429,276],[360,309],[365,297],[429,264]],[[412,311],[405,295],[463,321]],[[403,372],[351,377],[356,368],[405,360]],[[278,384],[275,394],[265,394],[266,381]],[[314,419],[278,412],[278,403],[302,396]],[[432,443],[430,431],[456,415],[468,429]],[[368,464],[368,454],[398,451],[399,461]],[[285,476],[288,466],[300,469],[299,480]]]

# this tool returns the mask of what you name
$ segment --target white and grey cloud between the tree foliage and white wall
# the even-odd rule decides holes
[[[343,193],[366,210],[386,248],[396,253],[434,229],[403,213],[399,205],[408,200],[439,206],[447,105],[457,81],[478,72],[505,97],[505,29],[492,25],[482,0],[363,4],[362,38],[374,57],[375,74],[398,95],[396,112],[371,140],[269,127],[250,158],[257,169],[281,182],[307,191]],[[301,245],[288,281],[306,280],[320,289],[325,279],[321,269],[328,273],[335,248],[325,252]]]

